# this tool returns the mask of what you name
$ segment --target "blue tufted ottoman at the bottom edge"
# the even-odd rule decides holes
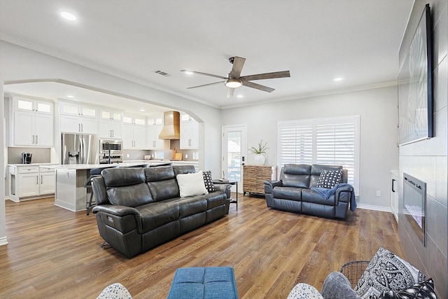
[[[179,268],[168,294],[168,299],[177,298],[238,299],[233,268]]]

